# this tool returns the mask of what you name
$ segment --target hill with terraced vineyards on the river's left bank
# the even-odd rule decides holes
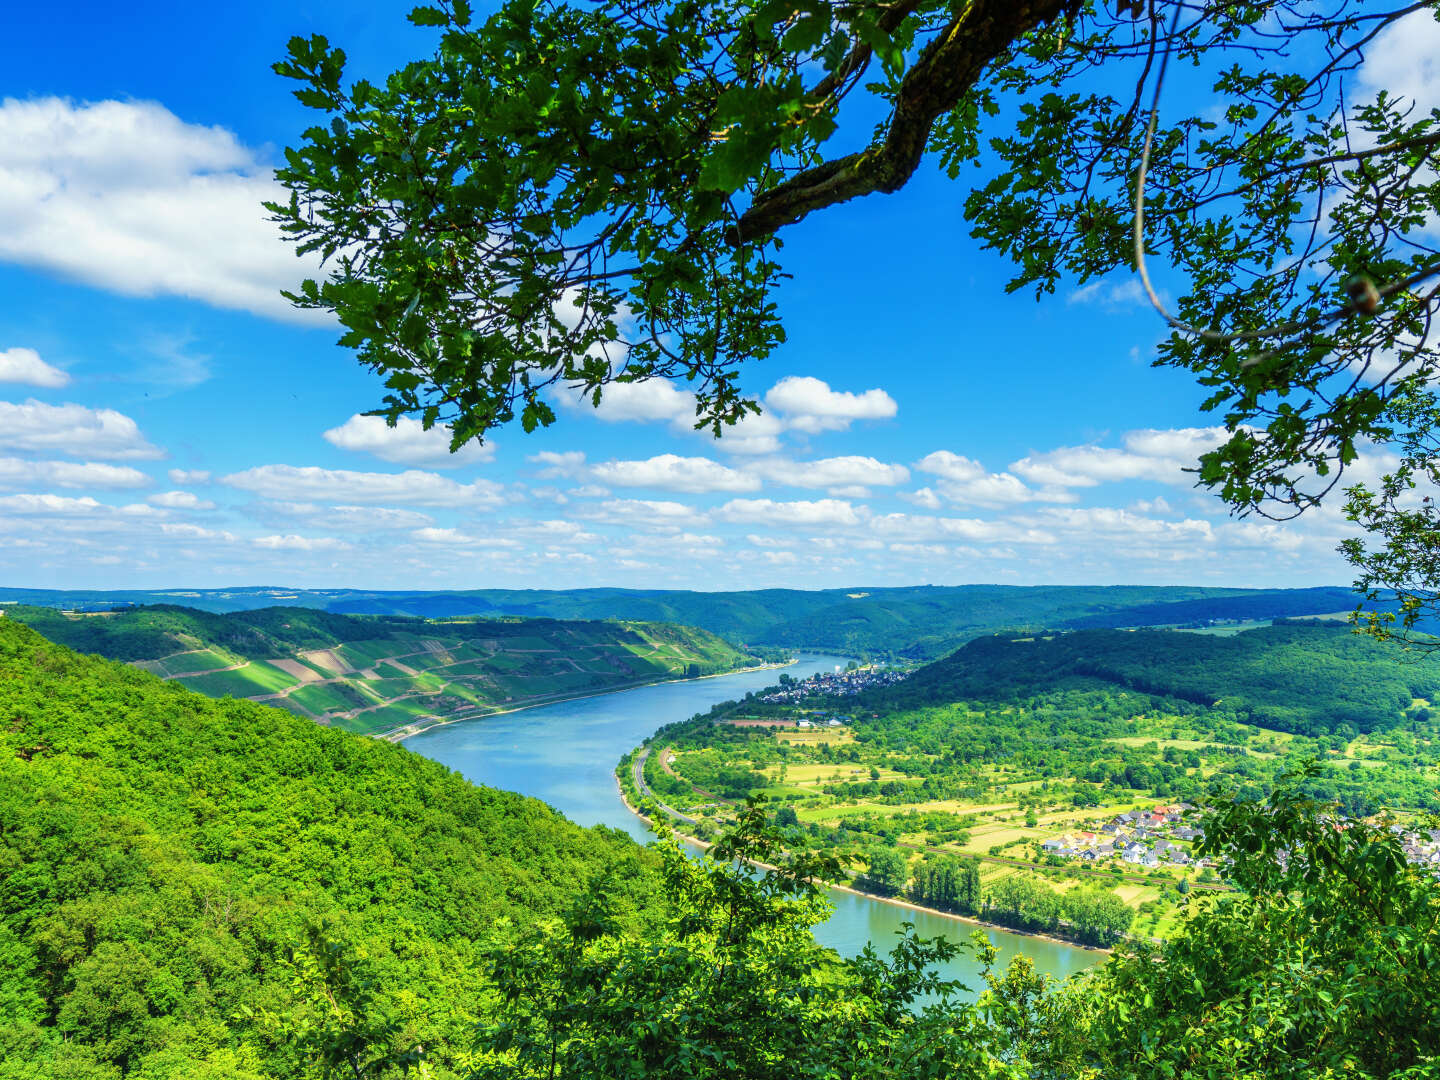
[[[157,605],[99,613],[9,606],[9,619],[212,697],[248,697],[363,733],[406,732],[752,661],[707,631],[652,622],[429,621]]]

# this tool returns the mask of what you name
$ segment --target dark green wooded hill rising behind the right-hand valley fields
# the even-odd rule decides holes
[[[1300,734],[1391,727],[1416,700],[1440,697],[1440,661],[1342,625],[1280,624],[1233,636],[1178,631],[1073,631],[979,638],[871,706],[910,708],[1109,687],[1214,706],[1243,723]]]

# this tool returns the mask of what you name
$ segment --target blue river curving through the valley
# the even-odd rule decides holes
[[[806,654],[785,668],[795,678],[844,665],[844,657]],[[743,671],[734,675],[660,683],[575,701],[562,701],[518,713],[462,720],[405,740],[422,753],[462,773],[474,783],[504,788],[541,799],[580,825],[611,825],[629,832],[642,844],[652,834],[621,801],[615,765],[639,746],[655,729],[688,720],[711,706],[732,701],[779,680],[780,671]],[[831,891],[835,913],[815,927],[815,937],[845,956],[865,945],[887,952],[901,923],[914,923],[926,936],[968,940],[971,923],[948,919],[852,893]],[[1096,963],[1100,953],[1076,949],[1041,937],[986,929],[985,936],[999,949],[999,966],[1021,953],[1048,975],[1066,978]],[[979,965],[962,952],[945,968],[948,978],[979,989]]]

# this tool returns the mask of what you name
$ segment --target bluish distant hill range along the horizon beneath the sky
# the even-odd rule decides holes
[[[107,608],[183,603],[233,612],[284,603],[346,615],[413,618],[520,616],[677,622],[756,648],[815,648],[865,657],[933,660],[972,638],[1004,629],[1156,626],[1328,615],[1352,609],[1348,589],[1208,589],[1191,586],[913,586],[896,589],[173,589],[52,592],[0,589],[0,602]]]

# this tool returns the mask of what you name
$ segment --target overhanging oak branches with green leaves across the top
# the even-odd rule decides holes
[[[785,340],[785,229],[959,180],[1007,288],[1152,272],[1178,300],[1156,364],[1194,373],[1230,432],[1201,484],[1299,514],[1346,467],[1372,537],[1361,585],[1436,603],[1440,109],[1367,50],[1434,0],[468,0],[415,9],[435,53],[380,84],[294,39],[276,71],[325,114],[271,210],[384,376],[379,412],[455,445],[569,389],[690,380],[696,426],[759,406],[740,369]],[[1377,82],[1377,79],[1380,82]],[[1166,81],[1171,84],[1166,88]],[[880,115],[878,124],[871,124]],[[968,171],[968,166],[981,168]],[[1385,628],[1381,621],[1377,628]]]

